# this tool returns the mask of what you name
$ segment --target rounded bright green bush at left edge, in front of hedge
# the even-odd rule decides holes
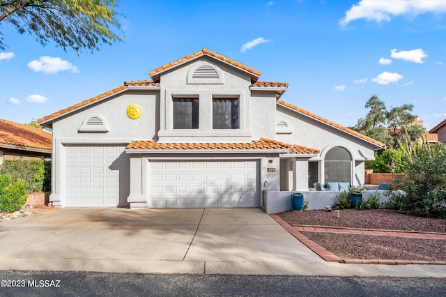
[[[0,211],[17,211],[26,203],[27,185],[20,178],[11,183],[10,176],[0,174]]]

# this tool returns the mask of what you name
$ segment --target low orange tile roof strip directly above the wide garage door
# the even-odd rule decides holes
[[[138,140],[126,146],[127,149],[289,149],[289,153],[316,154],[317,149],[307,148],[261,138],[247,143],[158,143],[153,140]]]

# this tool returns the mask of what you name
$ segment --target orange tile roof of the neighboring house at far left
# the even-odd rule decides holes
[[[3,160],[51,158],[51,132],[0,119],[0,164]]]

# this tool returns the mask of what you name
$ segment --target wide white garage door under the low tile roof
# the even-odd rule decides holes
[[[151,207],[259,207],[259,161],[150,161]]]

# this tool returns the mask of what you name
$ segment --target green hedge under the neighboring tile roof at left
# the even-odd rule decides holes
[[[4,160],[0,174],[10,175],[13,183],[20,179],[29,192],[38,192],[43,188],[45,165],[43,160]]]

